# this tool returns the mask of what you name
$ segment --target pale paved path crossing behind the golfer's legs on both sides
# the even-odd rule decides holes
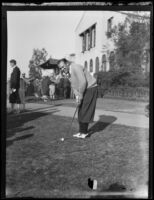
[[[54,110],[53,115],[66,117],[72,117],[75,111],[75,107],[69,107],[66,105],[54,106],[37,103],[27,103],[26,108],[28,109],[28,112],[50,113]],[[144,114],[96,109],[94,121],[98,120],[101,120],[106,123],[121,124],[140,128],[149,128],[149,118],[146,117]]]

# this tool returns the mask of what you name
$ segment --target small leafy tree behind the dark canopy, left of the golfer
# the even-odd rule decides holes
[[[40,64],[47,61],[47,51],[45,48],[40,49],[33,49],[33,55],[31,60],[29,61],[29,76],[35,77],[40,79],[42,77],[42,71],[40,67],[38,67]]]

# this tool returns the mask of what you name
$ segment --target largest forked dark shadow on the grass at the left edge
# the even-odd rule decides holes
[[[14,136],[17,132],[27,131],[35,128],[34,126],[23,127],[23,125],[29,121],[38,119],[40,117],[49,115],[56,112],[56,110],[51,111],[50,113],[45,112],[30,112],[24,113],[22,115],[13,115],[7,116],[7,135],[6,138]]]

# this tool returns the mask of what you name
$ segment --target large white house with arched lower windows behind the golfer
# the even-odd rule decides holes
[[[75,62],[91,74],[109,71],[114,65],[115,46],[110,39],[112,27],[125,22],[129,29],[139,14],[126,11],[85,11],[75,29]]]

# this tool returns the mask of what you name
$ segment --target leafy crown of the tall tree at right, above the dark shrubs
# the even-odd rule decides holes
[[[150,42],[149,23],[132,21],[129,30],[126,28],[126,21],[119,23],[112,29],[112,40],[116,47],[117,65],[124,71],[139,71],[143,61],[144,47]]]

